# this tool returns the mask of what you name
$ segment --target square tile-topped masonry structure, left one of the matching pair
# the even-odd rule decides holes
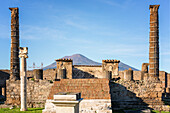
[[[57,79],[72,79],[72,59],[57,59]]]

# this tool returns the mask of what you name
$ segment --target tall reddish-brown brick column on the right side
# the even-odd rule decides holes
[[[149,39],[149,76],[159,77],[159,18],[160,5],[150,5],[150,39]]]

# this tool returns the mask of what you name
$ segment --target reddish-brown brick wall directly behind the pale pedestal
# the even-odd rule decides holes
[[[61,79],[54,82],[48,99],[58,92],[81,92],[83,99],[110,99],[108,79]]]

